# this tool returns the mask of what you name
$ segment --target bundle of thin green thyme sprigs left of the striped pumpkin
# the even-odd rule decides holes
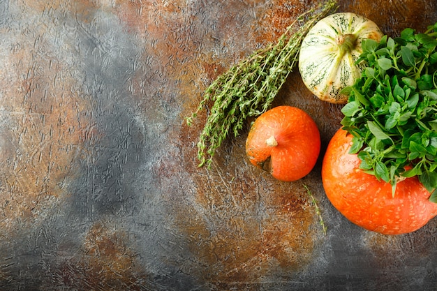
[[[191,125],[209,101],[205,127],[198,142],[199,167],[210,166],[212,157],[229,133],[238,135],[247,117],[265,112],[297,63],[300,45],[316,22],[336,10],[336,1],[328,0],[297,17],[275,44],[253,52],[218,76],[205,90],[198,108],[186,119]],[[299,29],[293,33],[295,26]]]

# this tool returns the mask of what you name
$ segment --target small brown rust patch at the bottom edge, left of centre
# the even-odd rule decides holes
[[[98,222],[89,229],[84,251],[61,263],[58,278],[80,290],[144,290],[149,275],[129,248],[128,234],[105,225],[113,224]]]

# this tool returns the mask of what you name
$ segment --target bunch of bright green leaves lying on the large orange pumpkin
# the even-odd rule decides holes
[[[364,40],[360,79],[344,89],[343,129],[360,168],[390,182],[417,176],[437,202],[437,23],[424,33]]]

